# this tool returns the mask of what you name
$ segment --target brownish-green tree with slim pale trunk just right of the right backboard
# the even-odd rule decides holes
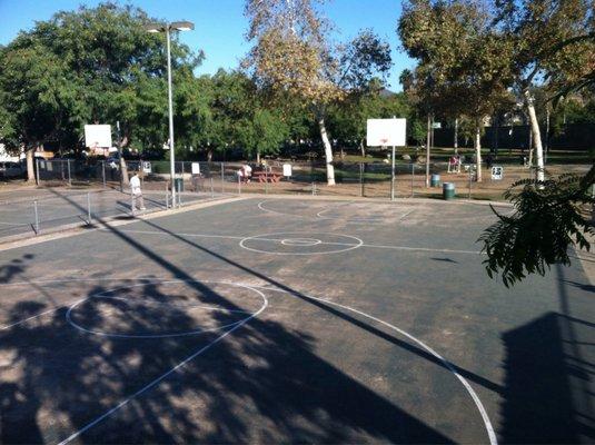
[[[429,112],[474,122],[477,181],[484,120],[512,101],[512,44],[490,22],[483,3],[413,0],[398,24],[404,48],[419,61],[413,78],[406,73],[409,90]]]

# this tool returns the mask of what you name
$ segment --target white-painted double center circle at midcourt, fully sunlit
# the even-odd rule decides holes
[[[325,255],[357,249],[364,241],[355,236],[327,233],[277,233],[244,238],[240,247],[271,255]]]

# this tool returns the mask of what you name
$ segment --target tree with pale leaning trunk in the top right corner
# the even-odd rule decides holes
[[[553,93],[593,72],[593,4],[583,0],[498,0],[494,26],[510,42],[515,89],[523,97],[533,132],[537,179],[544,180],[543,144],[533,91]]]

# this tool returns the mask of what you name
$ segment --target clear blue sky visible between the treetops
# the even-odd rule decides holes
[[[98,3],[98,0],[0,0],[0,44],[9,43],[20,30],[29,30],[36,21],[48,20],[58,11]],[[180,40],[194,50],[205,51],[206,60],[197,75],[237,68],[249,50],[244,37],[248,28],[244,0],[136,0],[126,3],[157,19],[192,21],[195,30],[181,32]],[[394,91],[400,90],[400,72],[415,66],[399,50],[396,27],[400,8],[400,0],[331,0],[324,7],[335,24],[337,40],[349,40],[360,29],[369,28],[390,43],[394,66],[388,83]]]

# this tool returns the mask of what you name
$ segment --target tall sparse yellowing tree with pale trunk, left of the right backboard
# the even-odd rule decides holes
[[[318,125],[325,149],[327,184],[335,185],[327,111],[350,90],[390,67],[388,44],[363,31],[344,46],[330,44],[328,22],[318,0],[247,0],[248,40],[255,41],[246,66],[258,86],[282,100],[294,97],[308,107]]]

